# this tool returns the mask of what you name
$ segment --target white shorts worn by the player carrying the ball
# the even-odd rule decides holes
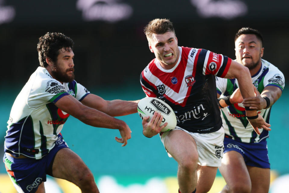
[[[212,166],[218,167],[221,166],[221,159],[224,152],[224,128],[221,127],[218,131],[212,133],[192,133],[187,130],[182,129],[181,127],[176,127],[173,130],[183,130],[188,133],[196,142],[197,150],[199,154],[200,166]],[[165,146],[165,138],[171,131],[162,133],[161,140]],[[168,151],[167,151],[168,153]],[[168,153],[169,157],[172,157]]]

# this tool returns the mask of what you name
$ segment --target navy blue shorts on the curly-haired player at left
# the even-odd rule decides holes
[[[41,159],[13,158],[6,153],[3,161],[10,179],[18,192],[34,193],[41,182],[46,182],[46,175],[52,175],[52,163],[56,153],[68,148],[61,134],[55,141],[55,146]]]

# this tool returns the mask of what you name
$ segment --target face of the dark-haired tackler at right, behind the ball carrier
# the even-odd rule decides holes
[[[264,48],[255,34],[242,34],[235,41],[236,59],[238,63],[254,69],[261,65]]]

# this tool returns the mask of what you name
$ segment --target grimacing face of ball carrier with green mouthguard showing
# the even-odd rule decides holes
[[[149,38],[149,50],[155,54],[164,69],[173,68],[180,53],[177,37],[171,31],[165,34],[153,34],[152,38]]]

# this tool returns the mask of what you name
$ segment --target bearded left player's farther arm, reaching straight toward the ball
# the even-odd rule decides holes
[[[81,103],[90,108],[102,111],[112,117],[116,117],[136,113],[138,101],[106,101],[97,95],[89,94],[81,101]]]

